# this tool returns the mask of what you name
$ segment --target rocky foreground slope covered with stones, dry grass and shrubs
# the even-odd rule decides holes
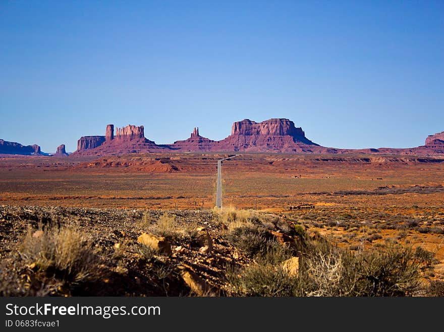
[[[405,248],[352,253],[284,215],[234,209],[3,205],[0,255],[2,296],[437,294]]]

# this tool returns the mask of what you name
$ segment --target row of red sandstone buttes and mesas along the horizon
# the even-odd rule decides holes
[[[425,145],[415,148],[337,149],[313,143],[301,127],[289,119],[269,119],[255,122],[249,119],[233,123],[231,135],[221,140],[203,137],[195,127],[189,138],[173,144],[158,145],[145,138],[143,126],[127,125],[122,128],[106,125],[105,135],[82,136],[77,141],[78,155],[125,155],[130,153],[168,152],[263,152],[263,153],[317,153],[317,154],[392,154],[442,156],[444,155],[444,131],[429,135]],[[45,155],[37,145],[22,146],[0,139],[0,154]],[[47,154],[46,154],[47,155]],[[65,146],[57,149],[56,156],[67,155]]]

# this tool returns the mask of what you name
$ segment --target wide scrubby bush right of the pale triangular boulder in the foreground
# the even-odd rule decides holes
[[[411,248],[351,253],[327,242],[304,253],[299,274],[307,296],[407,296],[419,276]]]

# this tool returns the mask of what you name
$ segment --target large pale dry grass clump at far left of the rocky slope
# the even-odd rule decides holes
[[[63,282],[80,283],[99,273],[98,258],[85,236],[69,226],[46,226],[37,232],[29,228],[20,253],[31,266]]]

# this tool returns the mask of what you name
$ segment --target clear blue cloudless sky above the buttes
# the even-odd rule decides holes
[[[0,138],[76,150],[289,118],[337,148],[444,130],[444,1],[0,1]]]

